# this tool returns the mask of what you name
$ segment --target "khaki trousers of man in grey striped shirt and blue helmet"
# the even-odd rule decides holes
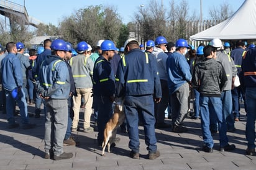
[[[88,89],[76,89],[77,96],[73,96],[73,110],[74,110],[74,119],[72,122],[72,128],[78,127],[79,122],[79,112],[81,105],[81,98],[85,100],[85,114],[83,121],[83,128],[89,128],[91,122],[91,114],[93,113],[93,109],[91,109],[93,105],[93,97],[91,97],[92,88]]]

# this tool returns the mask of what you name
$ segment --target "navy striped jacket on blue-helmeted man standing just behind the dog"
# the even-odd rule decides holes
[[[111,64],[102,55],[94,63],[93,95],[113,96],[115,94],[115,76]]]

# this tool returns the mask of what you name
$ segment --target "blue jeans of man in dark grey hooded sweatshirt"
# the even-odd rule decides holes
[[[199,98],[200,112],[201,112],[201,128],[203,133],[204,145],[213,148],[214,142],[209,128],[209,117],[215,114],[219,125],[219,145],[221,147],[228,144],[227,127],[222,114],[221,97],[204,97]]]

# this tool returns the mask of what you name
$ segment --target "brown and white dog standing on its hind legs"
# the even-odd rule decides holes
[[[105,148],[107,146],[107,151],[110,152],[110,145],[114,142],[116,138],[116,130],[119,125],[124,122],[125,119],[123,105],[122,104],[114,104],[114,114],[111,119],[106,123],[106,127],[104,129],[104,140],[103,140],[103,153],[104,156]]]

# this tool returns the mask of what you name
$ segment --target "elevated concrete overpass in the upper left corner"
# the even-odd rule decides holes
[[[25,22],[25,25],[32,25],[34,27],[42,23],[40,20],[30,17],[25,6],[7,0],[0,0],[0,14],[6,17],[11,15],[17,16]]]

